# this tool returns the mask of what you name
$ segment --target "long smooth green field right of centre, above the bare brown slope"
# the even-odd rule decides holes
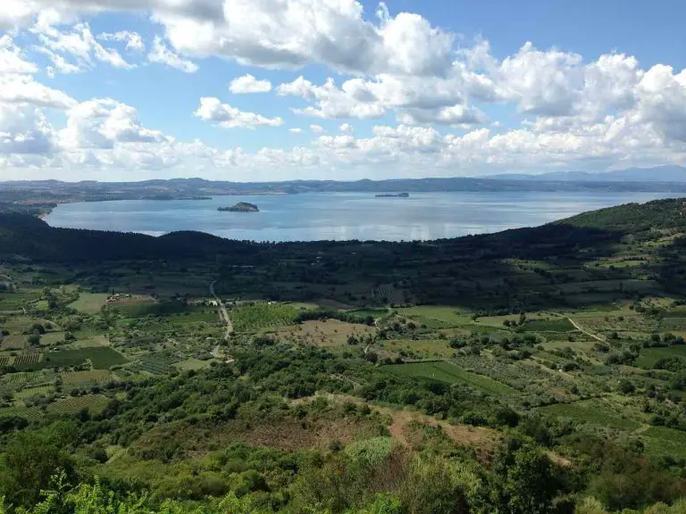
[[[428,378],[448,384],[466,384],[490,394],[513,394],[515,389],[489,377],[477,375],[446,361],[413,362],[388,366],[392,373],[407,377]]]

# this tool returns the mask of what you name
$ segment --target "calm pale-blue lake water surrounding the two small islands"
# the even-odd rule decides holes
[[[197,230],[255,241],[407,241],[531,227],[582,211],[669,196],[586,192],[411,193],[409,198],[375,198],[373,193],[215,196],[211,200],[65,203],[46,221],[53,227],[153,236]],[[260,212],[217,211],[238,202],[255,203]]]

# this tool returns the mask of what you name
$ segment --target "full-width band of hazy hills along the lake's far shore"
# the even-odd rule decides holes
[[[0,182],[0,212],[44,215],[58,203],[105,200],[206,200],[220,195],[297,195],[356,192],[376,194],[423,192],[661,192],[686,195],[686,168],[556,172],[543,175],[501,174],[469,178],[394,178],[387,180],[289,180],[227,182],[203,178],[172,178],[142,182],[62,182],[60,180]]]

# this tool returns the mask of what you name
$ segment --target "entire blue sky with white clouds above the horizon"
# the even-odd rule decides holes
[[[0,180],[686,165],[682,0],[0,4]]]

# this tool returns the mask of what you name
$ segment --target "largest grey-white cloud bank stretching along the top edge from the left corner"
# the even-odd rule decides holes
[[[356,0],[4,0],[0,27],[26,26],[39,13],[54,20],[96,12],[152,12],[180,53],[242,64],[302,68],[321,63],[354,73],[442,75],[455,36],[422,16],[364,18]]]

